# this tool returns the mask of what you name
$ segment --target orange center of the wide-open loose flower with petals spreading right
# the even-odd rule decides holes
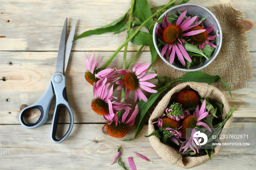
[[[132,91],[139,88],[139,79],[134,72],[128,72],[124,75],[124,85]]]

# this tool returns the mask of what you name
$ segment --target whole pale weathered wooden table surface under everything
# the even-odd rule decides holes
[[[151,147],[147,138],[147,125],[134,140],[124,142],[102,131],[103,117],[95,114],[90,103],[92,89],[84,79],[86,54],[93,51],[103,60],[125,41],[126,33],[106,33],[78,39],[74,42],[67,68],[67,95],[74,112],[75,125],[71,135],[61,144],[50,140],[50,126],[54,102],[45,125],[30,130],[19,123],[20,109],[31,105],[44,94],[55,70],[57,51],[64,19],[68,17],[68,30],[77,19],[76,34],[105,26],[120,18],[129,8],[131,0],[8,0],[0,6],[0,169],[121,169],[110,165],[121,146],[121,162],[129,169],[128,157],[133,157],[138,169],[179,169],[163,161]],[[168,0],[148,0],[150,7],[164,5]],[[254,0],[191,0],[204,6],[230,3],[243,17],[256,23]],[[233,90],[228,98],[234,104],[233,127],[256,127],[256,36],[252,27],[246,35],[253,64],[253,80],[248,87]],[[128,61],[138,50],[129,43]],[[150,62],[149,48],[135,60]],[[123,52],[118,53],[110,66],[122,67]],[[155,69],[156,66],[153,66]],[[153,73],[153,69],[150,73]],[[132,97],[131,97],[132,98]],[[32,117],[33,115],[31,115]],[[36,116],[36,114],[34,115]],[[65,117],[65,116],[64,116]],[[67,123],[63,116],[61,123]],[[65,125],[65,124],[64,124]],[[131,128],[125,139],[133,136]],[[133,152],[147,156],[153,163],[136,157]],[[204,165],[194,169],[251,169],[256,165],[255,150],[225,150]]]

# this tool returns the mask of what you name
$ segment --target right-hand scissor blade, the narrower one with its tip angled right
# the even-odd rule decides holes
[[[64,74],[67,70],[68,66],[68,60],[69,60],[69,55],[71,53],[72,45],[73,45],[73,40],[75,36],[75,30],[76,30],[76,20],[74,21],[74,24],[72,26],[72,29],[69,33],[68,40],[66,43],[66,51],[65,51],[65,62],[64,62]]]

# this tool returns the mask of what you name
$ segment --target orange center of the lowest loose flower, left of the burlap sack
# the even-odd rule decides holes
[[[113,121],[111,124],[106,123],[106,131],[110,136],[115,138],[123,138],[128,133],[128,125],[124,123],[116,123]]]

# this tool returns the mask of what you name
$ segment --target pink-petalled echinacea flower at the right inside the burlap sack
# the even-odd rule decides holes
[[[189,111],[187,110],[187,117],[185,117],[181,123],[181,125],[182,125],[181,133],[188,140],[186,140],[185,142],[183,142],[181,144],[180,151],[182,149],[184,149],[183,150],[183,153],[184,153],[185,151],[187,151],[188,147],[190,147],[194,152],[196,152],[194,148],[197,149],[197,147],[196,147],[195,142],[193,141],[193,134],[195,134],[195,132],[196,132],[196,130],[195,130],[196,126],[203,126],[208,131],[211,132],[210,127],[206,123],[200,121],[200,120],[204,119],[204,117],[211,116],[211,114],[208,114],[208,113],[209,113],[209,111],[206,111],[206,100],[203,101],[203,103],[200,107],[200,110],[199,110],[199,106],[197,105],[196,111],[193,113],[193,115],[190,115]],[[187,132],[189,132],[189,133],[186,134],[186,128],[193,128],[193,129],[192,129],[191,133],[187,130]],[[198,149],[197,149],[197,152],[198,152]]]

